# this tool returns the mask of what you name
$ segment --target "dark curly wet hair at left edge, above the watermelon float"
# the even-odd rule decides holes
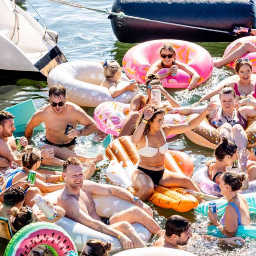
[[[20,186],[10,187],[4,191],[3,202],[9,207],[17,206],[25,198],[24,189]]]

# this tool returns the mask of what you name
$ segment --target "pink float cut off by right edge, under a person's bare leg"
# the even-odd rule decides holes
[[[235,40],[234,42],[230,43],[230,45],[228,45],[228,47],[226,48],[224,54],[228,50],[230,50],[236,43],[252,43],[253,45],[256,46],[256,36],[241,37],[241,38]],[[249,52],[249,53],[241,56],[241,58],[249,58],[250,61],[252,62],[252,66],[253,66],[252,67],[252,72],[256,73],[256,52]],[[227,66],[235,68],[235,61],[232,61]]]

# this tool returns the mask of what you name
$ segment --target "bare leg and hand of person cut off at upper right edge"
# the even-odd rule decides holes
[[[252,28],[239,27],[239,30],[237,30],[236,33],[240,34],[240,32],[246,32],[250,33],[251,35],[256,35],[256,29]],[[249,52],[256,52],[256,46],[250,42],[237,42],[228,52],[223,55],[220,60],[213,61],[213,64],[215,67],[220,68],[238,58],[241,58],[241,56]]]

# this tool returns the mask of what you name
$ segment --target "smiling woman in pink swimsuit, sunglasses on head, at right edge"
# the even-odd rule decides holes
[[[249,58],[237,59],[235,61],[235,71],[237,76],[225,84],[230,85],[235,92],[237,100],[241,95],[246,98],[256,98],[256,75],[252,74],[252,63]],[[219,83],[210,93],[204,95],[198,102],[209,100],[212,96],[217,95],[223,88],[223,82]]]

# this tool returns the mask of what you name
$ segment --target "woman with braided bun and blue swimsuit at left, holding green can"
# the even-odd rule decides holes
[[[25,147],[22,154],[22,167],[18,167],[16,171],[7,176],[1,190],[10,187],[12,184],[24,177],[28,177],[29,171],[36,171],[40,167],[42,160],[41,152],[37,148],[33,148],[31,145]],[[46,184],[46,182],[61,181],[63,181],[61,175],[50,175],[45,177],[42,174],[36,173],[35,184],[32,187],[28,185],[24,186],[24,193],[26,195],[25,204],[32,206],[34,203],[31,202],[31,200],[36,193],[50,193],[58,189],[62,189],[65,186],[64,183]]]

